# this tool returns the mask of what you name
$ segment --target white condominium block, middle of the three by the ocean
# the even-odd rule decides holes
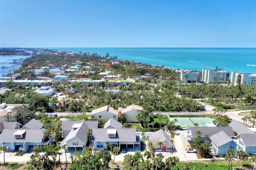
[[[229,80],[229,71],[209,70],[203,68],[202,81],[206,83],[227,83]]]

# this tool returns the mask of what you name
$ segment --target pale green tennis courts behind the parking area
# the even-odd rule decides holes
[[[194,123],[198,123],[199,127],[205,127],[206,123],[212,123],[212,121],[214,121],[214,119],[210,117],[171,117],[169,119],[170,121],[177,119],[178,122],[176,122],[175,125],[178,125],[182,128],[193,127]]]

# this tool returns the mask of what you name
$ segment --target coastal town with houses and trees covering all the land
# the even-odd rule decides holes
[[[19,50],[30,56],[14,59],[21,67],[0,77],[4,164],[158,170],[194,162],[243,168],[247,160],[255,167],[256,73]]]

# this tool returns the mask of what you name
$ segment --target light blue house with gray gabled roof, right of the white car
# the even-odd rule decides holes
[[[224,131],[209,137],[212,142],[212,152],[216,155],[225,155],[227,149],[236,151],[236,143]]]

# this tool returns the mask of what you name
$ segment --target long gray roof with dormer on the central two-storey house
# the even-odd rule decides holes
[[[136,129],[135,128],[118,128],[116,129],[116,137],[108,137],[107,128],[94,128],[92,130],[92,141],[94,142],[136,142]]]

